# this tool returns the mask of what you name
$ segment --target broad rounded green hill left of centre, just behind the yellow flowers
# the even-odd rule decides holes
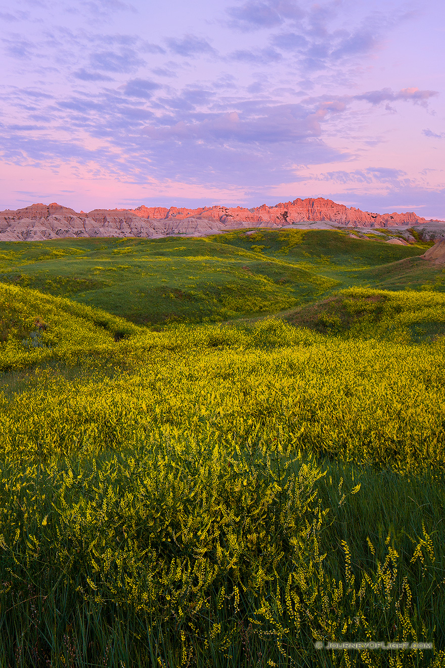
[[[55,248],[45,243],[37,252],[20,244],[20,262],[15,251],[13,265],[9,258],[3,261],[0,279],[142,324],[220,321],[282,310],[334,284],[306,269],[202,239],[81,240],[73,248],[65,241],[48,244]]]

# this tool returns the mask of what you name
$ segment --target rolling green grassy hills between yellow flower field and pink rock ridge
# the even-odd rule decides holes
[[[380,287],[388,276],[378,268],[400,261],[425,265],[428,277],[422,269],[405,277],[411,265],[404,265],[394,270],[396,289],[428,283],[441,290],[442,270],[416,258],[426,247],[324,230],[3,242],[0,282],[69,297],[142,325],[225,321],[284,311],[343,287]]]

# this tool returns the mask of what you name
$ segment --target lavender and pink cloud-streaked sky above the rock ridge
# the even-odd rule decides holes
[[[0,208],[445,218],[443,0],[9,0]]]

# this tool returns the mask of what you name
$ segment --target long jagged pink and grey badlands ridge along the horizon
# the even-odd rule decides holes
[[[404,214],[374,214],[357,208],[348,208],[322,197],[294,202],[280,202],[276,206],[257,206],[248,209],[227,206],[203,206],[196,209],[148,208],[134,210],[95,209],[89,213],[76,212],[56,202],[32,204],[17,211],[0,212],[0,240],[23,241],[63,237],[139,236],[159,238],[171,234],[199,236],[246,227],[280,228],[298,226],[334,228],[389,227],[393,225],[425,224],[413,212]]]

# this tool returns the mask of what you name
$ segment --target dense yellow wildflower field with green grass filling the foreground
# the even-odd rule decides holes
[[[0,283],[2,668],[445,665],[445,295],[286,318]]]

